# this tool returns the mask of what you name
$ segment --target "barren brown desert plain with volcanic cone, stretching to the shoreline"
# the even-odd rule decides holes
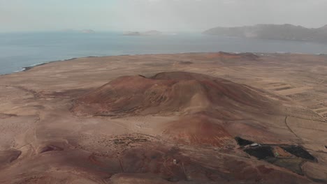
[[[0,183],[327,183],[327,55],[187,53],[0,76]]]

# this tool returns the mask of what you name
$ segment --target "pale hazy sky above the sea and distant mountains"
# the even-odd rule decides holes
[[[204,31],[259,23],[319,27],[327,0],[0,0],[0,31]]]

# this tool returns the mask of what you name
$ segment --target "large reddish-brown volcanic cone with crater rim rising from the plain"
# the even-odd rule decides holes
[[[76,114],[190,114],[270,112],[273,101],[260,91],[190,72],[161,72],[153,77],[119,77],[75,100]],[[228,116],[225,116],[228,117]]]

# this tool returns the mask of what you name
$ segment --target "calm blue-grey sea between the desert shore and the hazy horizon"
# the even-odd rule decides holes
[[[180,52],[296,52],[327,54],[327,44],[250,40],[179,33],[122,36],[121,33],[0,33],[0,74],[47,61],[84,56]]]

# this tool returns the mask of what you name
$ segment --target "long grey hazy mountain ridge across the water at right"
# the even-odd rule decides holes
[[[204,31],[203,34],[240,38],[327,42],[327,25],[310,29],[292,24],[256,24],[254,26],[215,27]]]

